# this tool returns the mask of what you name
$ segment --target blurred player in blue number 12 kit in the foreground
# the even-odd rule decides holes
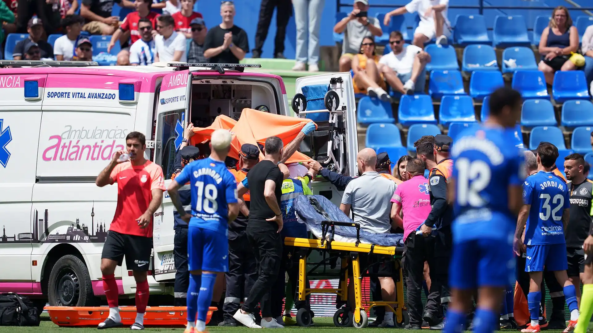
[[[451,148],[455,220],[445,333],[463,332],[476,289],[473,331],[498,329],[503,291],[513,279],[512,235],[525,168],[508,129],[521,112],[521,94],[499,88],[489,103],[490,117],[477,129],[461,132]]]

